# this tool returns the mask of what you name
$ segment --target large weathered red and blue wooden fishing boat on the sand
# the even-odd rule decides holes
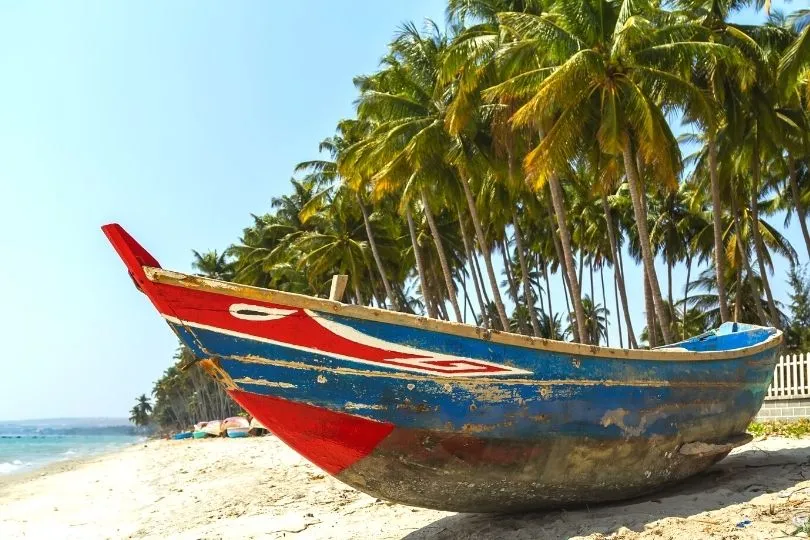
[[[622,499],[748,440],[782,335],[725,324],[657,350],[488,331],[161,269],[135,285],[251,415],[355,488],[444,510]]]

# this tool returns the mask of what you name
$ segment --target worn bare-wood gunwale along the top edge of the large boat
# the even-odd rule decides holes
[[[154,283],[174,285],[187,289],[202,290],[217,294],[224,294],[235,298],[245,298],[260,302],[289,305],[299,309],[313,309],[316,311],[334,313],[353,319],[383,322],[408,328],[419,328],[433,332],[455,335],[459,337],[491,341],[501,345],[510,345],[536,351],[548,351],[571,356],[588,356],[604,360],[652,360],[652,361],[711,361],[733,360],[744,356],[756,354],[779,346],[783,341],[782,331],[775,332],[768,339],[736,349],[724,351],[684,351],[666,349],[619,349],[616,347],[602,347],[599,345],[585,345],[582,343],[569,343],[547,338],[525,336],[500,330],[491,330],[453,321],[431,319],[423,315],[401,313],[385,309],[344,304],[335,300],[317,298],[303,294],[253,287],[240,283],[221,281],[203,276],[194,276],[183,272],[166,270],[153,266],[143,266],[146,278]],[[761,327],[766,328],[766,327]]]

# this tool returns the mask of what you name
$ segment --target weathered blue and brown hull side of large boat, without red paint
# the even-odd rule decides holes
[[[364,330],[374,330],[368,326],[364,321]],[[475,512],[621,499],[705,470],[748,440],[746,427],[777,356],[770,348],[682,363],[525,350],[518,357],[511,346],[482,350],[410,330],[409,344],[433,340],[441,352],[514,358],[513,365],[533,370],[507,379],[446,379],[357,369],[329,355],[212,330],[174,330],[201,356],[216,357],[238,392],[395,426],[336,474],[344,482],[410,505]],[[468,344],[474,352],[464,349]],[[706,443],[705,452],[681,452],[697,442]]]

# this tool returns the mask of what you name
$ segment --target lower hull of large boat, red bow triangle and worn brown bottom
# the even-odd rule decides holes
[[[537,510],[649,493],[707,469],[750,440],[744,431],[752,416],[744,410],[722,421],[697,420],[683,426],[691,432],[684,434],[600,439],[566,429],[526,440],[402,428],[277,397],[231,395],[352,487],[458,512]]]

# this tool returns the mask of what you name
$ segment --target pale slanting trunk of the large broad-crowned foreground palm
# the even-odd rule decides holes
[[[625,137],[627,137],[627,142],[622,149],[622,153],[624,154],[624,168],[627,173],[627,181],[630,185],[630,197],[633,200],[633,213],[636,218],[639,243],[641,244],[641,256],[644,259],[644,269],[650,282],[650,292],[652,293],[655,313],[658,315],[658,320],[661,322],[661,334],[665,343],[672,343],[669,313],[664,307],[663,298],[661,298],[661,287],[658,284],[658,275],[655,271],[655,257],[653,256],[652,245],[650,244],[650,234],[647,231],[647,213],[644,210],[644,205],[641,200],[644,192],[641,189],[641,180],[639,179],[638,170],[636,169],[636,160],[632,142],[630,141],[630,134],[625,133]],[[655,329],[653,328],[653,330]]]

